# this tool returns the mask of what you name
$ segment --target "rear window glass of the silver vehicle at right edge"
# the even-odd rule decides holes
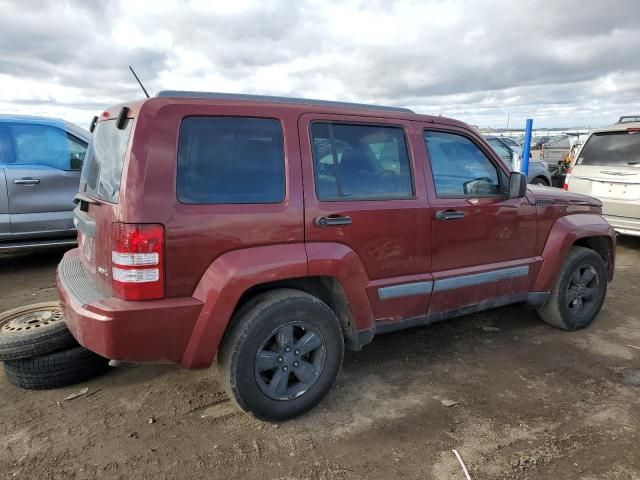
[[[594,133],[582,148],[578,165],[640,165],[640,132]]]

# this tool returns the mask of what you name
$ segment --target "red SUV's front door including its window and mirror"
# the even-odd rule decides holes
[[[479,138],[423,130],[431,214],[430,315],[522,300],[539,268],[536,207],[509,199],[508,169]]]

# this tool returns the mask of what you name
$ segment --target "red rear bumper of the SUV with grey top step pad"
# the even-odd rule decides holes
[[[181,363],[200,301],[105,297],[85,277],[77,248],[63,257],[56,282],[67,326],[83,347],[114,360]]]

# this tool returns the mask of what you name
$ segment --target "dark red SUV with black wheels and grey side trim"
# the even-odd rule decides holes
[[[58,267],[108,358],[209,366],[270,420],[344,347],[516,302],[587,326],[613,275],[601,204],[527,186],[464,123],[406,109],[162,92],[103,112]]]

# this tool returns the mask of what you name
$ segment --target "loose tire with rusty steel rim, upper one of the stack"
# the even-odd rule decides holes
[[[77,346],[58,302],[34,303],[0,314],[0,360],[20,360]]]

